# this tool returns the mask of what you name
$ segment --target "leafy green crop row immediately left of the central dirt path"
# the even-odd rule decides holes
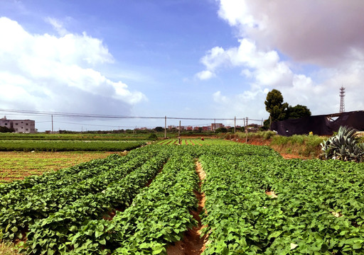
[[[72,254],[165,254],[181,240],[196,224],[189,211],[197,207],[198,176],[193,157],[176,150],[131,207],[110,221],[91,220],[70,237]]]

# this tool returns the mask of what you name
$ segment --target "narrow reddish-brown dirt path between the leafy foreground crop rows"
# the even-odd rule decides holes
[[[200,187],[206,174],[199,162],[196,162],[196,172],[200,178],[200,182],[198,183],[198,186]],[[198,199],[198,209],[196,211],[191,211],[191,215],[193,215],[193,218],[198,221],[198,226],[188,229],[182,241],[168,246],[168,255],[200,255],[205,249],[207,237],[200,237],[201,229],[204,227],[201,224],[200,212],[202,212],[205,206],[205,194],[199,193],[198,191],[194,191],[194,193]]]

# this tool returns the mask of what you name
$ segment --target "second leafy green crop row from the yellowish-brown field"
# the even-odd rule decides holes
[[[2,198],[6,206],[0,210],[0,227],[5,229],[3,238],[21,238],[21,232],[26,226],[33,225],[53,212],[63,210],[66,205],[88,194],[103,191],[109,183],[123,178],[141,164],[143,161],[137,159],[130,160],[121,167],[117,164],[102,166],[99,168],[102,173],[63,188],[38,185],[19,193],[7,194]]]

